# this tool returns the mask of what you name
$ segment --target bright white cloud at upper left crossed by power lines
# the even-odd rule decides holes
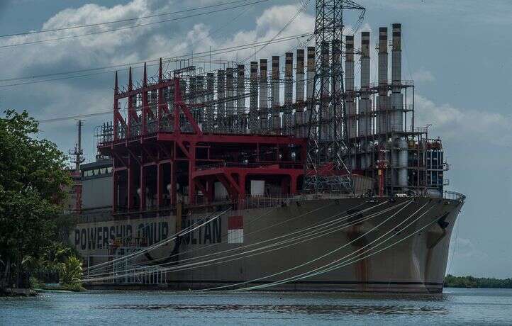
[[[55,14],[43,23],[42,30],[63,28],[74,25],[88,25],[104,21],[116,21],[126,18],[147,16],[150,11],[150,3],[154,1],[133,0],[125,5],[107,8],[96,4],[86,4],[77,9],[65,9]],[[145,20],[144,22],[148,22]],[[36,45],[20,45],[2,49],[3,59],[10,62],[7,76],[23,75],[23,72],[30,70],[45,71],[59,67],[66,69],[72,65],[75,68],[88,68],[99,65],[116,64],[116,60],[122,60],[123,56],[117,55],[123,52],[133,53],[128,50],[140,42],[141,36],[148,33],[148,30],[155,26],[129,28],[117,30],[110,33],[100,33],[79,38],[77,35],[96,33],[114,28],[121,28],[130,24],[140,23],[131,21],[129,23],[116,23],[89,28],[76,28],[60,30],[50,33],[32,35],[18,35],[3,39],[2,45],[37,42],[55,38],[63,40],[38,43]],[[57,69],[57,68],[55,68]]]

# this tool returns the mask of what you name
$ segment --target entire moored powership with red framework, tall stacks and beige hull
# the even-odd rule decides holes
[[[126,86],[118,84],[116,73],[113,121],[101,125],[96,133],[99,156],[108,157],[112,164],[108,175],[111,218],[102,215],[96,220],[92,209],[89,224],[77,227],[72,235],[77,249],[88,257],[89,281],[122,283],[149,268],[160,279],[165,275],[167,283],[191,288],[240,285],[249,280],[273,285],[279,283],[274,274],[289,275],[302,266],[301,259],[308,264],[329,262],[322,255],[332,249],[335,239],[346,242],[347,250],[353,246],[362,250],[382,237],[385,241],[380,245],[386,245],[392,235],[410,245],[399,257],[403,261],[389,265],[383,263],[385,257],[363,257],[362,262],[355,261],[355,271],[343,269],[347,284],[367,291],[401,291],[408,282],[411,286],[404,285],[404,291],[442,288],[439,280],[444,275],[451,227],[464,196],[445,198],[447,164],[442,142],[430,139],[427,127],[416,125],[414,85],[401,78],[401,24],[392,25],[391,40],[386,27],[375,35],[378,82],[373,84],[372,35],[367,31],[357,35],[357,48],[355,35],[343,34],[341,20],[344,9],[364,9],[352,1],[316,1],[316,5],[314,47],[299,47],[247,65],[213,60],[221,66],[215,70],[190,60],[169,60],[167,65],[181,67],[165,72],[165,60],[160,60],[156,77],[148,77],[144,64],[143,79],[134,81],[130,69]],[[327,19],[325,13],[333,16]],[[359,78],[356,66],[360,67]],[[84,191],[86,186],[87,182]],[[367,215],[375,207],[382,210]],[[325,215],[316,215],[317,210]],[[304,216],[309,218],[291,222]],[[325,220],[336,225],[340,216],[349,225],[335,228],[339,233],[322,229],[325,239],[320,240],[318,250],[312,250],[311,243],[296,243],[304,254],[284,259],[283,266],[267,268],[265,264],[286,256],[289,249],[253,261],[228,260],[213,271],[167,275],[181,266],[182,259],[198,259],[189,252],[206,250],[206,256],[215,256],[242,250],[289,237],[289,232],[314,230]],[[280,223],[288,227],[277,227]],[[409,240],[414,233],[404,237],[404,225],[418,227],[418,239]],[[250,236],[272,227],[277,230]],[[194,231],[198,232],[195,237]],[[134,259],[133,269],[126,262],[124,269],[115,267],[121,266],[122,257],[100,257],[99,252],[106,249],[123,252],[118,248],[123,245],[116,245],[121,242],[114,240],[130,237],[145,239],[148,247],[140,249],[140,254],[128,254],[126,259]],[[417,247],[420,242],[425,248]],[[204,248],[197,249],[201,245]],[[240,247],[228,249],[233,245]],[[377,252],[377,247],[373,249]],[[249,271],[255,262],[260,271]],[[377,268],[381,263],[390,269]],[[407,271],[396,271],[411,264],[415,265],[406,267]],[[304,271],[313,280],[301,281],[304,287],[297,287],[299,283],[294,282],[299,279],[294,274],[290,282],[296,289],[333,290],[329,282],[340,285],[343,280],[329,268],[333,266],[317,267],[322,271],[319,279],[318,273]],[[398,285],[379,286],[386,277]],[[416,281],[401,281],[404,278]]]

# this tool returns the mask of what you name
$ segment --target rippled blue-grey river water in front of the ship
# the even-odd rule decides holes
[[[87,291],[0,298],[0,325],[512,325],[511,289],[435,296]]]

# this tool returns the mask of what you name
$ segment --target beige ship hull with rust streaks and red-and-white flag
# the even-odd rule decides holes
[[[461,206],[462,201],[440,198],[290,200],[225,213],[137,262],[174,269],[162,271],[176,289],[440,293]],[[200,225],[204,215],[182,218],[181,228]],[[180,228],[173,216],[155,223],[164,220],[168,235]],[[138,235],[148,236],[151,227],[140,227],[144,223],[133,221],[133,232],[139,225]],[[103,230],[94,224],[91,229]],[[83,234],[84,227],[90,225],[77,225],[77,232]],[[166,238],[153,230],[152,242]],[[105,254],[105,248],[82,247],[78,242],[86,257]]]

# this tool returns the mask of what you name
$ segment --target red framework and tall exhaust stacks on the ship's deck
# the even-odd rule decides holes
[[[218,62],[213,70],[187,61],[169,72],[160,60],[156,77],[145,65],[143,79],[134,81],[129,69],[126,86],[116,73],[113,121],[96,133],[99,154],[113,159],[114,213],[161,215],[219,196],[243,207],[253,181],[264,181],[272,196],[354,196],[353,177],[367,176],[376,194],[379,171],[384,196],[442,194],[441,140],[415,125],[414,84],[401,79],[401,25],[393,24],[391,43],[387,28],[379,29],[372,84],[370,33],[361,33],[357,48],[354,35],[340,33],[343,26],[323,24],[316,47],[286,52],[284,60],[272,56],[270,70],[266,58]]]

